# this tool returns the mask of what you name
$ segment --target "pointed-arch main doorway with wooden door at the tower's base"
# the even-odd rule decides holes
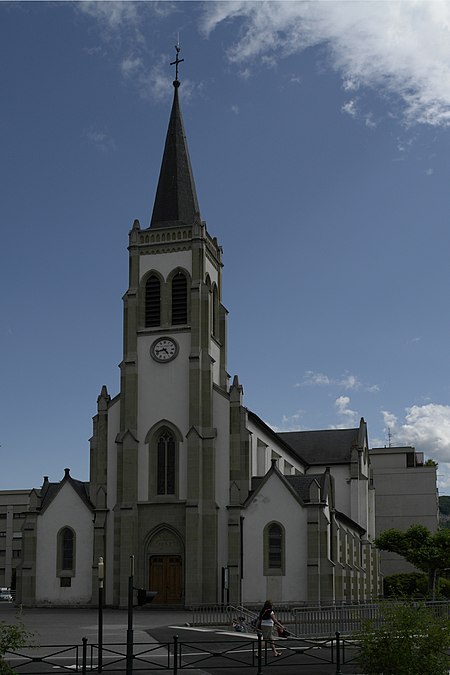
[[[183,545],[170,529],[159,530],[149,542],[148,579],[149,589],[156,591],[155,603],[161,605],[182,604]]]

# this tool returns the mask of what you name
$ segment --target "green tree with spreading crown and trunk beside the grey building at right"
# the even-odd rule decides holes
[[[450,568],[450,530],[430,532],[425,525],[411,525],[407,530],[385,530],[375,539],[382,551],[398,553],[411,565],[428,575],[428,592],[435,596],[438,574]]]

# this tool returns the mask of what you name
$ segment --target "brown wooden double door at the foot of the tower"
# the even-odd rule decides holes
[[[152,555],[149,589],[156,591],[155,603],[172,605],[183,600],[183,565],[180,555]]]

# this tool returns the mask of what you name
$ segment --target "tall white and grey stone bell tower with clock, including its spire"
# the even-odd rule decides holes
[[[127,601],[131,555],[135,583],[157,591],[156,604],[217,602],[227,564],[221,248],[200,216],[179,102],[178,53],[179,47],[150,225],[144,229],[135,220],[129,233],[120,393],[108,402],[107,434],[97,438],[94,424],[91,443],[92,484],[107,485],[106,549],[114,570],[109,594],[119,606]],[[102,401],[106,397],[103,392]]]

